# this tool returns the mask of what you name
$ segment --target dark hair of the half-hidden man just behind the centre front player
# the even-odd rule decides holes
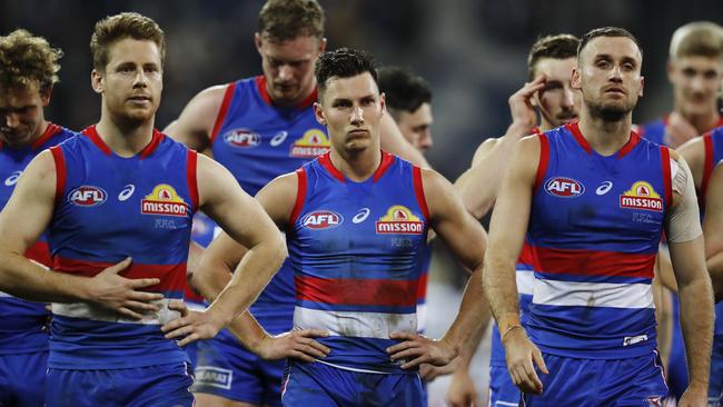
[[[432,101],[429,83],[412,70],[384,67],[379,68],[378,75],[379,90],[386,95],[388,109],[413,113],[422,103]]]

